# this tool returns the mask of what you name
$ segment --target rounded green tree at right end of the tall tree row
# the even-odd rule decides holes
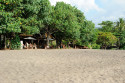
[[[81,28],[81,45],[88,46],[96,42],[97,30],[95,24],[92,21],[85,21],[84,27]]]

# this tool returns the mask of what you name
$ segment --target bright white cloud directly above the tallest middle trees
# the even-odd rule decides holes
[[[58,1],[63,1],[65,3],[71,4],[72,6],[76,6],[78,9],[84,11],[104,11],[102,8],[99,8],[99,6],[96,5],[95,0],[50,0],[52,5],[55,5]]]

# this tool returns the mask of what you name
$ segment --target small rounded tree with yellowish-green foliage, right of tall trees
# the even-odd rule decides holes
[[[111,32],[99,32],[97,43],[101,45],[102,48],[107,48],[116,44],[117,38]]]

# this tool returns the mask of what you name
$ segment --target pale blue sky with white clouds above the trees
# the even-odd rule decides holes
[[[102,21],[125,18],[125,0],[50,0],[52,5],[60,1],[77,7],[96,27],[100,27],[98,24]]]

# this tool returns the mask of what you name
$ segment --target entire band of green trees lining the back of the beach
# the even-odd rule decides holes
[[[47,34],[47,46],[52,35],[56,46],[85,46],[93,49],[125,49],[125,20],[95,24],[84,13],[64,2],[52,6],[49,0],[1,0],[0,35],[9,35],[12,49],[20,45],[20,34]],[[1,39],[1,38],[0,38]],[[2,43],[1,43],[2,46]]]

